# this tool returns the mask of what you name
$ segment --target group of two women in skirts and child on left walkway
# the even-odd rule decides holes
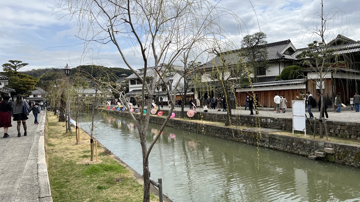
[[[17,95],[16,101],[14,102],[11,102],[10,96],[6,94],[4,94],[2,98],[3,101],[0,102],[0,128],[4,128],[3,138],[9,137],[8,128],[12,127],[11,116],[13,116],[13,121],[17,122],[18,137],[21,137],[21,124],[24,128],[24,136],[27,136],[26,120],[31,111],[35,117],[34,124],[39,124],[37,122],[37,114],[40,114],[39,102],[36,102],[35,105],[31,103],[32,106],[30,106],[30,101],[23,100],[22,95]],[[45,108],[41,109],[45,110]]]

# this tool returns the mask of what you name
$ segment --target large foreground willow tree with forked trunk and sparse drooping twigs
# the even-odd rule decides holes
[[[89,47],[94,42],[112,43],[121,55],[121,60],[132,73],[142,82],[141,99],[145,96],[151,98],[159,83],[167,83],[164,78],[172,66],[181,64],[183,54],[191,52],[202,52],[213,46],[213,41],[219,43],[226,41],[225,32],[222,31],[219,17],[232,17],[234,26],[238,27],[239,19],[229,10],[217,8],[209,0],[60,0],[60,6],[68,10],[72,18],[78,20],[80,25],[79,36]],[[229,22],[229,21],[228,21]],[[87,33],[84,33],[87,32]],[[230,38],[230,37],[229,37]],[[143,73],[139,74],[126,56],[126,48],[123,44],[132,45],[133,54],[143,62]],[[86,51],[84,51],[86,52]],[[193,59],[196,60],[196,59]],[[159,65],[166,63],[165,66]],[[152,69],[149,69],[153,66]],[[149,83],[148,77],[153,76]],[[183,76],[174,82],[175,89],[178,87]],[[117,92],[125,100],[122,92],[113,88],[108,81],[97,79],[102,84]],[[169,97],[169,87],[166,86]],[[148,202],[150,198],[149,183],[149,154],[163,131],[174,109],[173,97],[170,102],[172,107],[169,115],[159,130],[156,138],[148,147],[145,139],[150,114],[140,113],[139,118],[130,113],[136,128],[139,131],[140,144],[143,156],[144,176],[144,199]],[[124,106],[129,106],[122,103]],[[147,106],[150,111],[151,105]],[[144,102],[141,110],[144,110]]]

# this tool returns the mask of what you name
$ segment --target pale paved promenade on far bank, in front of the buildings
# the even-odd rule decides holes
[[[164,106],[163,108],[160,107],[160,110],[169,110],[170,108],[168,106]],[[186,113],[189,110],[189,106],[184,107],[184,112]],[[233,115],[249,115],[250,111],[248,110],[249,108],[247,108],[245,110],[245,107],[238,107],[237,109],[232,109]],[[354,110],[351,110],[350,106],[347,106],[346,109],[344,109],[344,107],[341,107],[341,113],[337,113],[336,111],[328,111],[328,115],[329,115],[329,121],[342,121],[342,122],[355,122],[355,123],[360,123],[360,112],[357,113]],[[177,108],[175,106],[174,108],[175,111],[181,111],[181,108]],[[200,107],[200,109],[198,109],[197,111],[203,111],[203,108]],[[221,108],[221,111],[217,111],[217,109],[208,109],[208,113],[212,113],[212,114],[226,114],[226,111],[222,111],[223,109]],[[319,118],[319,109],[318,107],[316,107],[315,109],[311,110],[312,114],[316,117]],[[255,114],[255,110],[253,110],[254,115]],[[273,108],[262,108],[259,107],[259,114],[260,116],[266,116],[266,117],[278,117],[278,118],[292,118],[292,109],[288,108],[285,113],[275,113]],[[309,113],[305,113],[307,117],[309,117]],[[186,116],[186,114],[185,114]]]

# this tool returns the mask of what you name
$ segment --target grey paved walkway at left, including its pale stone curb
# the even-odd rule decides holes
[[[32,113],[26,121],[27,136],[17,136],[17,123],[12,121],[8,134],[3,137],[1,128],[0,147],[0,201],[34,202],[52,201],[48,171],[45,161],[44,127],[45,111],[39,114],[34,123]]]

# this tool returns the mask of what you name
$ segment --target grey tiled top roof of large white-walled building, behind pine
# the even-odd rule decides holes
[[[290,47],[291,41],[285,40],[285,41],[278,41],[274,43],[267,43],[266,47],[264,47],[267,50],[267,60],[277,60],[277,59],[290,59],[293,60],[294,58],[289,54],[283,54],[281,52],[285,51],[287,47]],[[223,53],[223,57],[225,59],[225,62],[228,66],[236,65],[243,59],[243,62],[247,62],[248,59],[246,57],[242,57],[239,55],[241,49],[228,51]],[[204,64],[205,69],[211,69],[214,66],[221,66],[222,62],[219,58],[219,56],[215,56],[212,60],[208,61],[206,64]]]

